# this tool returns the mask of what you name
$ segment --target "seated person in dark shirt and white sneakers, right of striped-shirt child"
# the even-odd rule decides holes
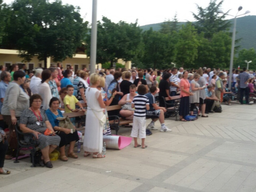
[[[147,125],[147,129],[158,130],[155,127],[155,122],[159,119],[161,123],[160,132],[171,132],[172,130],[168,129],[164,124],[164,112],[166,112],[166,109],[162,108],[161,106],[157,106],[156,104],[156,99],[155,99],[156,93],[157,93],[157,87],[152,86],[150,88],[150,93],[145,94],[145,96],[150,101],[150,110],[147,110],[146,118],[152,119],[151,123]]]

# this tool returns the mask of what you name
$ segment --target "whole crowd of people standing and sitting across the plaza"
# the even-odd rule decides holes
[[[227,90],[229,75],[232,75],[231,90]],[[146,135],[152,134],[150,130],[158,130],[155,126],[157,120],[161,123],[160,132],[172,131],[164,122],[164,98],[169,98],[168,103],[172,106],[172,97],[180,95],[179,116],[180,121],[185,122],[187,116],[194,115],[195,108],[200,109],[201,117],[208,117],[207,114],[221,108],[221,100],[231,105],[230,97],[236,95],[237,100],[244,104],[245,95],[245,104],[249,104],[249,93],[256,93],[255,72],[248,72],[245,68],[242,71],[234,69],[232,73],[209,68],[155,71],[113,68],[90,74],[86,68],[74,72],[70,67],[63,71],[58,63],[49,69],[36,68],[32,73],[26,71],[26,65],[19,70],[14,64],[10,71],[0,66],[0,79],[0,114],[5,122],[1,122],[0,127],[3,130],[8,127],[12,133],[19,123],[22,132],[31,133],[33,136],[25,137],[25,141],[31,137],[37,139],[42,153],[41,163],[49,168],[53,167],[49,154],[57,146],[60,160],[78,158],[74,153],[75,143],[79,140],[77,131],[59,126],[58,118],[63,117],[63,113],[85,112],[84,103],[87,115],[83,156],[92,154],[93,158],[104,158],[105,155],[101,154],[103,135],[111,135],[108,116],[118,115],[133,120],[133,125],[125,126],[132,127],[134,147],[146,148]],[[121,110],[106,111],[106,106],[117,104],[122,105]],[[147,126],[146,118],[152,119]],[[75,119],[71,122],[75,129]],[[45,134],[47,131],[51,134]],[[17,150],[11,148],[8,141],[5,132],[0,131],[0,174],[10,174],[3,170],[4,159],[13,158]],[[67,155],[66,145],[69,145]]]

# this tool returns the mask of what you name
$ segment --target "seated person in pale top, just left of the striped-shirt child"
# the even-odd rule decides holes
[[[118,102],[118,104],[123,105],[122,110],[119,112],[119,114],[122,117],[125,117],[125,119],[133,120],[133,114],[134,110],[132,109],[132,101],[135,96],[138,94],[136,93],[136,86],[135,84],[132,84],[130,86],[130,93],[126,94],[122,97],[122,99]],[[129,126],[129,125],[125,125]]]

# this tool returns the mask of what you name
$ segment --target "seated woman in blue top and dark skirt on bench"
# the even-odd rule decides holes
[[[75,131],[73,134],[71,133],[70,129],[66,129],[63,127],[59,127],[59,120],[57,120],[57,117],[63,117],[60,110],[58,110],[59,107],[59,99],[57,97],[53,97],[50,100],[49,104],[50,108],[46,110],[46,115],[53,127],[53,129],[57,132],[57,135],[60,136],[60,143],[59,143],[59,151],[60,151],[60,157],[59,159],[61,161],[68,161],[68,158],[65,153],[65,146],[69,144],[69,152],[68,157],[77,159],[78,156],[74,153],[74,147],[76,141],[79,140],[77,131]]]

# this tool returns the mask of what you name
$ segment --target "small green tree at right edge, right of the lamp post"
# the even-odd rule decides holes
[[[234,62],[234,67],[240,66],[240,69],[243,67],[247,67],[247,61],[252,61],[249,64],[249,69],[256,69],[256,51],[254,48],[251,49],[242,49],[239,51],[238,57],[236,58]]]

